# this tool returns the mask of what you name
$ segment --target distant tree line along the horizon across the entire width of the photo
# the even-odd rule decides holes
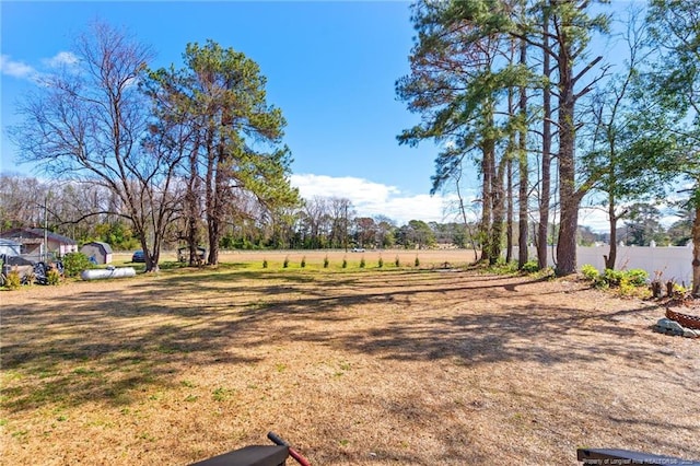
[[[100,186],[78,186],[73,183],[40,182],[35,177],[0,175],[0,232],[15,228],[43,228],[72,237],[81,244],[91,241],[108,243],[116,251],[140,248],[131,224],[109,207],[115,200]],[[661,223],[661,211],[651,205],[630,207],[630,217],[618,229],[616,238],[626,245],[684,246],[692,241],[691,212],[678,211],[670,226]],[[85,215],[84,212],[105,212]],[[117,212],[117,213],[114,213]],[[358,215],[349,199],[314,197],[302,199],[301,207],[289,209],[280,221],[266,220],[255,203],[238,206],[223,219],[219,246],[223,249],[342,249],[364,247],[431,248],[457,247],[480,251],[482,245],[471,234],[476,222],[424,222],[411,220],[397,224],[386,215]],[[245,212],[244,215],[233,212]],[[173,249],[186,244],[188,228],[185,215],[176,217],[164,231],[163,247]],[[529,224],[529,244],[537,224]],[[557,225],[550,225],[548,245],[557,237]],[[203,237],[203,231],[200,232]],[[576,244],[608,244],[609,233],[596,233],[581,225]]]

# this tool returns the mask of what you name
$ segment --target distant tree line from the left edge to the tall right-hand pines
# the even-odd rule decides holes
[[[230,206],[221,219],[218,246],[224,249],[427,248],[438,242],[466,245],[462,224],[411,220],[397,225],[385,215],[357,215],[346,198],[301,200],[299,207],[288,208],[275,219],[249,199],[235,201],[241,203]],[[50,231],[79,243],[101,241],[117,251],[140,248],[139,235],[118,205],[118,199],[100,185],[0,176],[0,232],[46,224]],[[185,244],[189,228],[190,219],[185,213],[175,214],[163,230],[161,245],[174,248]],[[195,236],[205,238],[205,226],[199,228]]]

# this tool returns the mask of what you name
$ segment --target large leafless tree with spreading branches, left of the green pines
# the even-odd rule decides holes
[[[162,145],[142,145],[149,105],[138,84],[153,54],[100,22],[77,37],[72,53],[77,63],[47,77],[21,104],[24,119],[11,138],[45,173],[115,194],[124,210],[114,213],[131,221],[147,270],[155,270],[176,200],[176,161]]]

